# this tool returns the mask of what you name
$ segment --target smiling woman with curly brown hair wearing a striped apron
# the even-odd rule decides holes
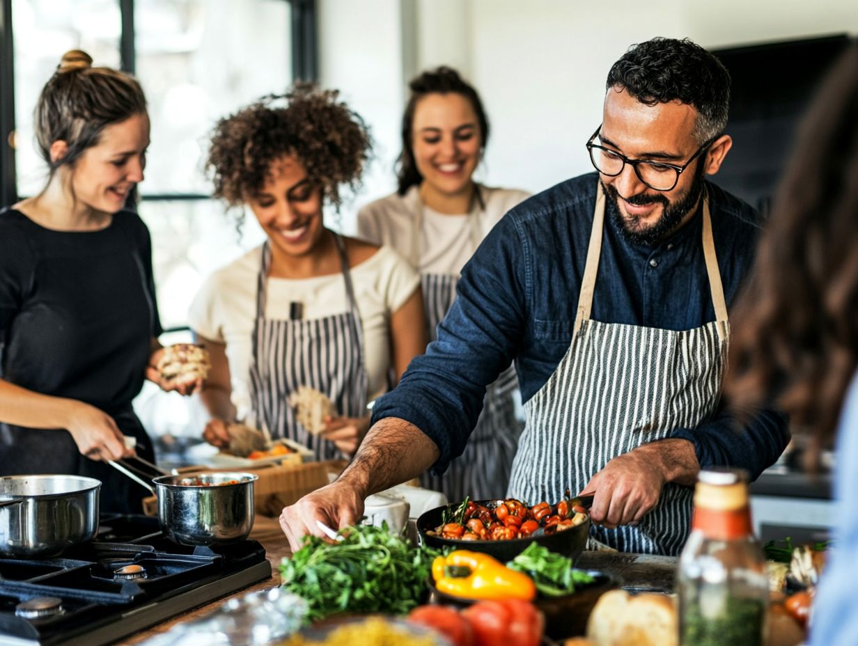
[[[212,369],[201,391],[209,443],[245,420],[318,459],[350,456],[369,428],[366,404],[426,347],[420,278],[390,247],[323,224],[325,202],[354,188],[370,149],[360,117],[334,91],[298,86],[222,119],[208,154],[215,196],[246,205],[268,235],[210,276],[190,307]],[[336,415],[320,435],[289,405],[302,386]]]

